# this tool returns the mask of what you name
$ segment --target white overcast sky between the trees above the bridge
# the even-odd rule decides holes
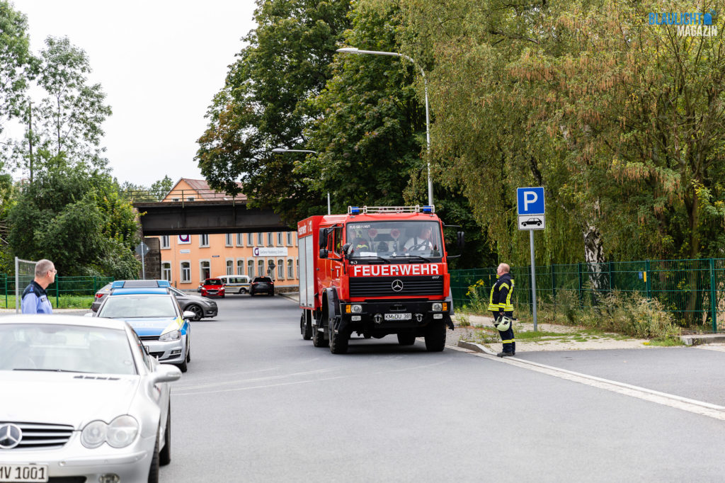
[[[67,36],[88,54],[113,115],[101,146],[118,181],[202,178],[204,114],[254,28],[252,0],[11,0],[36,54]]]

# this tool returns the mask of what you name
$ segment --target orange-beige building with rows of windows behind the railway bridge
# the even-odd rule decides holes
[[[207,181],[181,178],[163,201],[231,199],[215,193]],[[246,199],[244,195],[236,199]],[[276,288],[299,286],[297,233],[159,236],[161,278],[182,290],[196,290],[204,278],[220,275],[271,276]]]

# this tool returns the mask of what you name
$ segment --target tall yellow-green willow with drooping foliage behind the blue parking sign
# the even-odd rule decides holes
[[[648,22],[703,6],[406,4],[407,48],[435,58],[436,164],[500,252],[528,255],[513,207],[515,187],[531,184],[547,189],[539,253],[552,261],[583,255],[596,272],[608,257],[722,249],[721,36]]]

